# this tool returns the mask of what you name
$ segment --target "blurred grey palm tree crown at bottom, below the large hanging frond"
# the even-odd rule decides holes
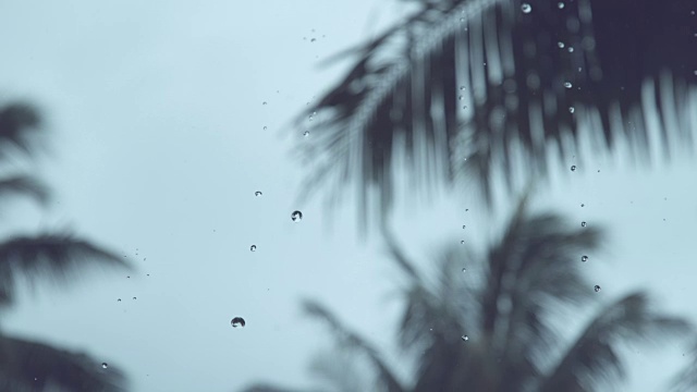
[[[598,249],[601,231],[572,229],[559,215],[528,213],[525,205],[523,199],[484,257],[449,248],[431,278],[388,241],[407,278],[399,345],[405,363],[416,359],[413,379],[399,377],[383,354],[327,307],[309,301],[305,311],[328,324],[344,350],[367,359],[377,375],[375,390],[389,392],[603,390],[625,375],[621,346],[692,331],[681,317],[652,308],[646,292],[603,298],[580,260]],[[590,304],[592,314],[582,318]],[[568,341],[574,327],[579,332]],[[274,391],[256,388],[248,391]]]

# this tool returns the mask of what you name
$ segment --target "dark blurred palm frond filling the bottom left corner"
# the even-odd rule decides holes
[[[120,392],[123,372],[85,354],[0,334],[0,390]]]

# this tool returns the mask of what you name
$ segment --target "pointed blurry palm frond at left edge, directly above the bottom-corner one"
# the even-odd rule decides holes
[[[131,268],[114,253],[70,234],[15,236],[0,243],[0,305],[12,303],[16,280],[65,282],[90,267]]]

